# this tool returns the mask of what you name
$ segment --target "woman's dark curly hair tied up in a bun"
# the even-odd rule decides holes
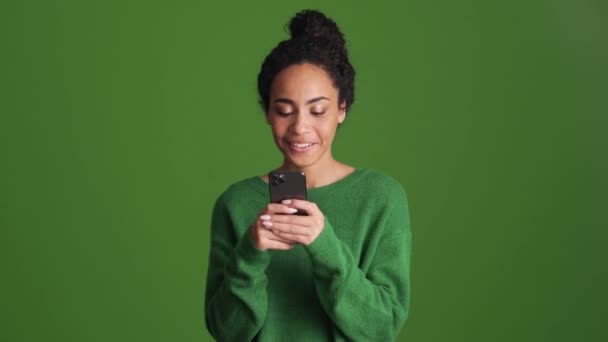
[[[275,76],[293,64],[323,68],[338,89],[338,105],[346,112],[355,102],[355,69],[348,60],[344,35],[336,23],[317,10],[297,13],[289,22],[291,38],[280,42],[262,63],[258,74],[260,105],[268,112],[270,86]]]

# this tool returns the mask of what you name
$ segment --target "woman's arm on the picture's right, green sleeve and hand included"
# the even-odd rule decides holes
[[[359,232],[366,239],[361,262],[336,236],[315,203],[285,200],[284,204],[309,215],[278,215],[264,222],[278,236],[305,246],[319,301],[334,326],[350,340],[392,340],[408,315],[409,211],[405,192],[394,189],[374,226]]]

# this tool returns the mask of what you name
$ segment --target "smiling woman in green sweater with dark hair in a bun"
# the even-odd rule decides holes
[[[260,102],[308,201],[269,204],[268,177],[231,185],[212,214],[205,322],[221,341],[388,341],[409,307],[410,227],[394,179],[335,160],[354,69],[335,22],[302,11],[266,57]],[[308,216],[289,215],[297,209]],[[288,215],[284,215],[288,214]]]

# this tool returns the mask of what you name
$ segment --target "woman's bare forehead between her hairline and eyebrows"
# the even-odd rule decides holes
[[[325,96],[336,101],[338,90],[322,68],[313,64],[294,64],[275,76],[270,88],[270,99],[288,98],[306,101]]]

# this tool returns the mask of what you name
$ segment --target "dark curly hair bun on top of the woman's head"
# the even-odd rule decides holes
[[[289,22],[292,39],[325,39],[340,49],[344,48],[344,36],[338,25],[316,10],[304,10],[296,14]]]

